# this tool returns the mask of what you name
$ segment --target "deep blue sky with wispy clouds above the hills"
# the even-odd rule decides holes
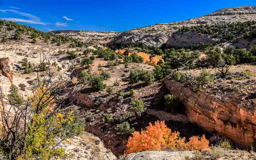
[[[187,20],[256,0],[0,0],[0,19],[39,30],[117,31]]]

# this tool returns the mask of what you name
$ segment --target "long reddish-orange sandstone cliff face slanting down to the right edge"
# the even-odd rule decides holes
[[[167,79],[164,83],[170,93],[179,95],[190,122],[208,132],[217,132],[242,147],[256,144],[255,110],[240,107],[234,101],[220,101],[202,92],[192,92]]]

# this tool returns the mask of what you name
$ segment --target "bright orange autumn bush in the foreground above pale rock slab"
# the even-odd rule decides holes
[[[172,132],[167,128],[164,121],[156,121],[154,125],[149,123],[147,130],[142,130],[141,133],[133,132],[127,143],[128,154],[147,150],[162,150],[163,148],[178,151],[209,149],[209,141],[205,135],[202,135],[202,137],[190,137],[186,142],[185,137],[179,137],[179,132]]]

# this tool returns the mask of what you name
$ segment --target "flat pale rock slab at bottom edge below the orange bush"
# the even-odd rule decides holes
[[[166,152],[166,151],[145,151],[128,154],[124,160],[179,160],[182,159],[183,156],[189,156],[193,158],[193,151],[179,151],[179,152]]]

